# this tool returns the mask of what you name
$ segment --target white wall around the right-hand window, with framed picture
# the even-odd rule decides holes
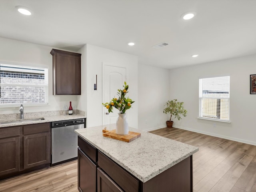
[[[230,74],[231,123],[198,119],[198,78],[220,74]],[[188,110],[173,126],[256,145],[256,95],[250,94],[250,74],[256,74],[256,55],[170,70],[170,99],[183,101]]]

